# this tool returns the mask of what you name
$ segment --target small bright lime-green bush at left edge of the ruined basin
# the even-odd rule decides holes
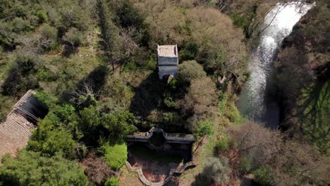
[[[106,159],[106,163],[108,163],[111,168],[118,170],[125,165],[127,160],[126,144],[114,144],[112,146],[105,144],[103,149],[104,159]]]

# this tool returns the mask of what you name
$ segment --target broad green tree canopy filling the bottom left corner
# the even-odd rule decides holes
[[[16,158],[4,156],[0,166],[3,185],[85,185],[87,177],[74,161],[59,154],[51,158],[39,152],[20,151]]]

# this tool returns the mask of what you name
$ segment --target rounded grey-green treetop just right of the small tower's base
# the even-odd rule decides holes
[[[178,77],[184,82],[190,82],[193,79],[205,77],[206,73],[203,67],[196,61],[183,61],[178,68]]]

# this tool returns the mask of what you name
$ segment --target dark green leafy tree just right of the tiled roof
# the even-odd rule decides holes
[[[75,108],[69,104],[56,105],[50,107],[47,116],[38,122],[27,148],[41,151],[47,156],[62,152],[64,156],[72,158],[78,145],[74,139],[79,140],[82,136]]]

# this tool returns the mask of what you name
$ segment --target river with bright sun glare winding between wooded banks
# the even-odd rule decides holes
[[[243,116],[269,128],[279,125],[279,105],[274,97],[271,75],[283,39],[290,35],[293,26],[313,4],[277,4],[264,18],[260,26],[263,32],[249,59],[250,79],[243,87],[238,109]],[[272,87],[273,86],[273,87]],[[273,92],[272,92],[273,91]]]

